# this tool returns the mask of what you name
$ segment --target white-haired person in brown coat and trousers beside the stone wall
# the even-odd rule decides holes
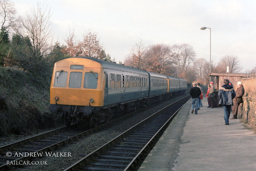
[[[237,111],[240,103],[243,103],[244,86],[241,81],[237,82],[236,97],[233,99],[233,117],[230,119],[237,119]]]

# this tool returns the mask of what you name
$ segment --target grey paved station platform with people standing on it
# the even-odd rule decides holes
[[[191,114],[191,102],[181,108],[139,171],[255,171],[255,131],[239,118],[225,125],[223,108],[206,108],[206,97],[198,114]]]

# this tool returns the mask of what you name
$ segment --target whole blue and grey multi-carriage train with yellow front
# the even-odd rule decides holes
[[[49,110],[67,125],[80,122],[96,127],[114,114],[135,111],[186,90],[183,78],[76,56],[54,64]]]

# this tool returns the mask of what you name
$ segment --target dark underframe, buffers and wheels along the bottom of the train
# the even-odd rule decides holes
[[[74,123],[81,123],[84,126],[89,125],[90,127],[97,127],[101,123],[108,123],[113,118],[113,116],[118,117],[118,115],[136,111],[140,108],[144,108],[158,101],[166,100],[173,95],[181,94],[184,92],[185,91],[165,93],[137,100],[125,101],[104,107],[52,104],[55,105],[54,108],[57,108],[55,109],[56,112],[53,113],[56,114],[56,124],[60,123],[63,125],[71,125]]]

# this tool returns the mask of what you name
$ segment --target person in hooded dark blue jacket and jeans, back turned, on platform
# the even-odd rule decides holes
[[[233,99],[236,97],[234,88],[229,85],[229,80],[224,79],[224,85],[219,89],[218,96],[220,98],[219,105],[223,105],[225,125],[229,125],[228,119],[230,116]]]

